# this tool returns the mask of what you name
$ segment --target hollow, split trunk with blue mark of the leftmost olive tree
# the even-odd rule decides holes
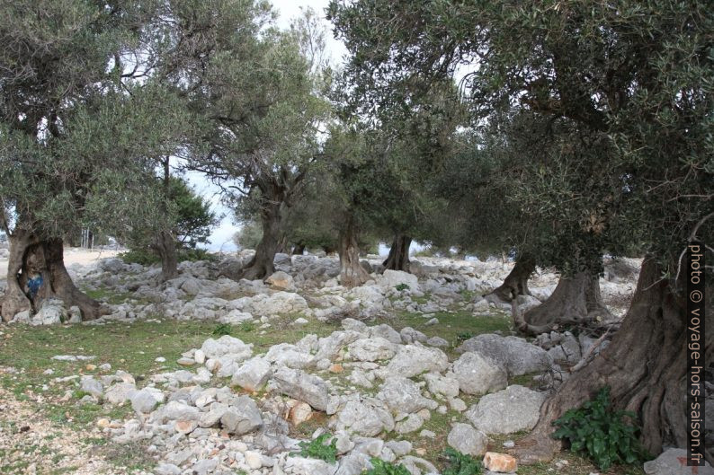
[[[2,317],[10,321],[15,314],[40,309],[43,300],[58,298],[67,308],[76,305],[83,320],[94,320],[102,315],[100,303],[81,292],[72,282],[64,263],[62,240],[38,241],[31,233],[16,230],[10,240],[10,260],[7,268]],[[28,279],[42,277],[42,285],[34,295],[28,295]]]

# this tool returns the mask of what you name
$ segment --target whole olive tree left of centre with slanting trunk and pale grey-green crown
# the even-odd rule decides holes
[[[300,24],[264,31],[249,59],[232,54],[231,45],[214,53],[215,71],[192,93],[206,124],[206,152],[194,154],[191,167],[222,187],[238,216],[257,216],[263,226],[254,258],[230,277],[272,273],[283,217],[320,158],[318,132],[329,113],[320,93],[325,76],[316,72],[317,59],[305,55],[304,40],[314,35],[303,34]]]

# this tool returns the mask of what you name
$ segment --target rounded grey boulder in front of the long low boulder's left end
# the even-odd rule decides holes
[[[454,361],[454,377],[461,391],[467,394],[484,394],[504,389],[508,375],[502,365],[489,357],[467,351]]]

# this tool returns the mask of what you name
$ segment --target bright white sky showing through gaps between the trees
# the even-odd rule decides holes
[[[347,49],[344,48],[342,41],[335,40],[332,34],[332,26],[325,20],[325,8],[329,4],[329,0],[273,0],[272,5],[278,12],[277,24],[279,27],[287,29],[290,27],[290,22],[293,18],[300,14],[300,8],[311,7],[323,19],[326,24],[326,52],[329,55],[333,65],[339,65],[343,57],[347,54]],[[203,197],[210,199],[213,211],[218,215],[223,216],[219,225],[213,229],[210,234],[209,244],[207,245],[210,251],[236,251],[236,245],[233,243],[233,234],[237,232],[239,226],[234,223],[233,215],[227,207],[220,203],[218,189],[212,185],[205,177],[198,172],[190,172],[186,174],[186,179],[191,183],[193,189]]]

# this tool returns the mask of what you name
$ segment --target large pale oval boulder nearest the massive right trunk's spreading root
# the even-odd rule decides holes
[[[543,392],[513,384],[504,391],[486,394],[466,413],[471,423],[486,434],[512,434],[531,430],[540,418]]]

